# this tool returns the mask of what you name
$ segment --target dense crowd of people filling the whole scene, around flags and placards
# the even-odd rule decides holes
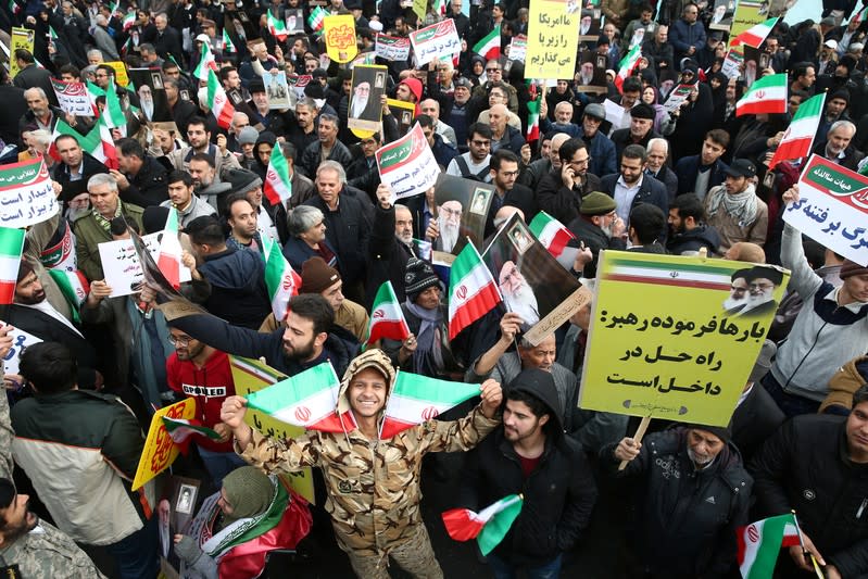
[[[41,159],[59,211],[27,228],[13,303],[0,305],[0,357],[18,362],[0,397],[0,569],[156,577],[168,477],[131,483],[153,413],[190,398],[215,435],[193,436],[173,473],[213,493],[184,499],[206,523],[172,529],[185,577],[256,577],[269,550],[328,534],[329,519],[358,577],[389,577],[390,561],[442,577],[422,517],[425,477],[453,477],[452,506],[476,512],[521,493],[521,513],[485,559],[498,578],[558,576],[606,518],[613,488],[629,523],[611,577],[737,576],[737,529],[791,511],[802,543],[782,550],[775,577],[816,575],[812,559],[828,578],[868,576],[868,267],[783,223],[805,160],[769,168],[793,115],[823,92],[813,154],[865,168],[864,7],[823,0],[816,22],[781,18],[733,72],[720,2],[601,0],[599,38],[579,41],[574,77],[549,85],[526,80],[524,55],[510,54],[528,35],[527,1],[442,3],[429,0],[424,16],[399,0],[3,7],[0,41],[12,47],[14,26],[33,43],[0,67],[0,162]],[[354,18],[356,62],[387,73],[379,103],[351,105],[352,64],[328,59],[318,10]],[[405,39],[444,18],[462,40],[454,58],[373,58],[378,35]],[[500,55],[487,60],[473,47],[494,29]],[[636,43],[638,66],[616,78]],[[209,53],[234,104],[228,128],[210,109],[213,87],[191,74]],[[602,91],[586,90],[588,53],[605,60]],[[119,73],[137,68],[155,75],[148,90],[123,86]],[[281,71],[304,88],[274,108],[263,75]],[[788,111],[738,115],[751,85],[776,73],[789,75]],[[100,114],[116,91],[125,122],[110,130],[111,154],[93,146],[93,115],[59,108],[52,78],[89,83]],[[667,110],[679,85],[689,96]],[[152,122],[160,106],[171,122]],[[360,137],[348,119],[372,109],[380,130]],[[375,156],[405,134],[406,111],[444,175],[493,189],[483,238],[545,212],[575,236],[569,270],[586,285],[603,250],[749,262],[731,280],[726,307],[737,315],[769,307],[768,288],[781,282],[751,263],[790,269],[747,381],[727,385],[742,392],[729,426],[654,420],[640,442],[628,416],[579,407],[590,305],[536,344],[523,335],[538,312],[510,302],[450,338],[446,285],[419,241],[445,252],[463,242],[461,206],[439,203],[435,187],[395,201]],[[281,202],[263,192],[275,149],[290,179]],[[159,288],[115,292],[99,249],[163,231],[171,212],[190,273],[179,291],[196,304],[184,315],[163,309]],[[266,284],[272,242],[300,278],[282,319]],[[52,275],[70,263],[59,255],[86,280],[80,298]],[[410,336],[365,350],[386,281]],[[18,352],[17,330],[37,343]],[[331,364],[343,431],[281,439],[252,428],[230,356],[290,377]],[[399,367],[479,383],[479,398],[381,440]],[[458,451],[457,473],[426,457]],[[316,506],[278,476],[306,467]]]

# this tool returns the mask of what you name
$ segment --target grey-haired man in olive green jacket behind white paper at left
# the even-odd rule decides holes
[[[78,259],[78,269],[85,274],[89,281],[103,279],[102,260],[99,246],[104,241],[112,241],[109,229],[110,223],[115,217],[123,216],[127,222],[133,222],[141,230],[141,216],[143,209],[138,205],[121,201],[117,191],[117,181],[111,175],[99,174],[87,181],[92,210],[81,214],[74,223],[75,253]]]

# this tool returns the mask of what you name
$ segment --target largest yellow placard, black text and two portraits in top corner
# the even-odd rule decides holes
[[[604,252],[579,406],[729,424],[790,277],[762,267]]]

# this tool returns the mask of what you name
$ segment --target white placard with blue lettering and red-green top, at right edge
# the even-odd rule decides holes
[[[812,155],[798,179],[798,201],[787,206],[783,221],[868,266],[868,177]]]

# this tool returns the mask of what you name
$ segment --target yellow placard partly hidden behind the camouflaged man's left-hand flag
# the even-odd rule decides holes
[[[235,392],[239,397],[267,388],[287,377],[264,362],[259,362],[256,360],[229,356],[229,363],[232,369]],[[304,433],[303,428],[281,423],[253,408],[248,408],[244,415],[244,421],[269,438],[286,440]],[[281,475],[281,477],[289,483],[293,491],[304,496],[310,503],[314,503],[314,481],[310,468],[287,473],[286,475]]]

